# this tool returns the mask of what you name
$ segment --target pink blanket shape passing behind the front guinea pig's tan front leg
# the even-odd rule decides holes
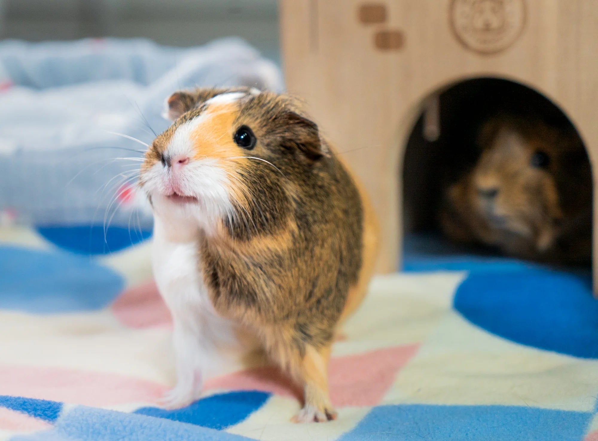
[[[396,373],[419,345],[395,346],[330,361],[330,397],[335,406],[376,406],[392,385]],[[301,399],[301,389],[274,367],[266,366],[217,377],[206,389],[258,390]]]

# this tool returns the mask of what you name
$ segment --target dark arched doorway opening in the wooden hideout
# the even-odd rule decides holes
[[[440,256],[467,255],[476,258],[510,256],[589,268],[590,162],[566,114],[536,90],[499,78],[460,81],[435,93],[426,103],[426,110],[408,137],[402,162],[404,267]],[[520,132],[526,132],[521,142],[531,149],[531,156],[518,156],[514,150],[496,147],[503,142],[498,135],[503,129],[496,127],[504,128],[509,122]],[[495,126],[492,137],[484,141],[484,132],[492,132],[489,128],[492,126]],[[571,147],[573,144],[579,148]],[[500,150],[493,161],[483,158],[489,147]],[[487,163],[484,175],[480,171],[482,160]],[[522,160],[527,162],[518,163]],[[492,170],[493,167],[496,169]],[[540,173],[532,170],[533,167],[545,170]],[[521,177],[526,173],[542,175],[544,180],[537,185],[530,184],[532,180]],[[459,184],[465,180],[467,184]],[[483,188],[480,182],[484,180],[492,180],[492,189]],[[508,197],[506,190],[501,193],[505,195],[507,208],[503,204],[499,213],[501,219],[490,219],[484,211],[490,210],[487,200],[482,203],[479,198],[496,197],[499,187],[505,185],[511,188]],[[457,186],[462,187],[463,196],[447,196]],[[512,188],[517,186],[517,189]],[[486,195],[480,196],[484,191]],[[541,198],[551,197],[556,198],[551,207],[544,207],[548,203],[536,203]],[[462,219],[457,219],[460,220],[457,232],[451,232],[443,215],[447,204],[450,209],[460,204],[456,207],[460,218],[468,220],[471,213],[471,218],[481,219],[480,222],[465,222],[464,226]],[[492,207],[495,216],[500,210],[496,204]],[[481,225],[484,222],[487,225]],[[482,231],[484,228],[486,232]],[[522,239],[524,235],[533,236],[533,240],[527,240],[531,245]],[[509,240],[515,245],[509,244]],[[576,249],[569,249],[568,243],[572,240],[576,241]],[[522,247],[529,249],[522,250]],[[572,258],[575,255],[579,258]]]

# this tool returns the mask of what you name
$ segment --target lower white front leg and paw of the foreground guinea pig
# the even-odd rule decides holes
[[[187,406],[200,397],[202,379],[202,336],[199,328],[181,319],[174,319],[173,348],[175,351],[176,385],[166,392],[161,404],[167,409]]]

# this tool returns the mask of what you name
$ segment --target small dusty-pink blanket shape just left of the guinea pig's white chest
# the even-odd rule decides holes
[[[124,291],[112,303],[111,309],[121,324],[131,328],[172,325],[168,308],[153,280]]]

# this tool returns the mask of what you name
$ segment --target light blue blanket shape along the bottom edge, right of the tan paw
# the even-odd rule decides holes
[[[591,416],[526,406],[379,406],[339,441],[579,441]]]

